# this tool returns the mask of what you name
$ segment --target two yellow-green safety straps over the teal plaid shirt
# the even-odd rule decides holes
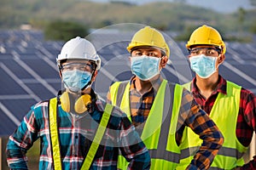
[[[58,102],[57,98],[49,100],[49,134],[52,150],[52,159],[55,170],[62,169],[61,165],[61,145],[58,134],[58,124],[57,124],[57,108]],[[87,156],[84,159],[84,163],[81,169],[89,169],[90,165],[96,155],[96,150],[98,149],[99,144],[102,141],[103,134],[105,133],[106,127],[108,126],[108,120],[113,110],[113,105],[106,105],[105,110],[102,115],[102,120],[99,124],[99,127],[96,130],[96,135],[90,145],[90,149],[87,153]]]

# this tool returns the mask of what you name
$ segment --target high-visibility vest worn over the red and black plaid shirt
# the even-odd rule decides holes
[[[191,82],[184,84],[185,88],[191,90]],[[236,138],[236,122],[240,105],[241,87],[233,82],[227,81],[227,94],[218,93],[218,97],[212,106],[210,117],[216,123],[224,135],[224,144],[218,155],[215,156],[210,169],[232,169],[244,165],[242,156],[247,150]],[[201,146],[202,140],[185,127],[183,133],[184,142],[182,148],[182,160],[177,169],[184,169],[195,156],[195,152]]]

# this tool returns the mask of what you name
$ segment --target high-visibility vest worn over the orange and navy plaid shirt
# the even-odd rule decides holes
[[[119,106],[131,120],[129,94],[129,82],[115,82],[110,88],[113,105]],[[181,85],[164,80],[155,96],[141,135],[151,156],[151,169],[175,169],[179,162],[175,133],[182,94]],[[119,156],[119,169],[126,169],[127,165],[125,158]]]

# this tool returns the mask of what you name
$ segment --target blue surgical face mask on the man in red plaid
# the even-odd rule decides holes
[[[210,57],[204,54],[190,57],[191,70],[195,71],[201,78],[211,77],[216,72],[216,59],[217,57]]]

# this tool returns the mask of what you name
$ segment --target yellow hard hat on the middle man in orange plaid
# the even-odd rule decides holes
[[[164,36],[156,29],[145,26],[143,29],[137,31],[131,39],[127,50],[131,53],[131,49],[139,46],[150,46],[160,48],[166,53],[166,56],[170,56],[170,48],[168,47]]]

